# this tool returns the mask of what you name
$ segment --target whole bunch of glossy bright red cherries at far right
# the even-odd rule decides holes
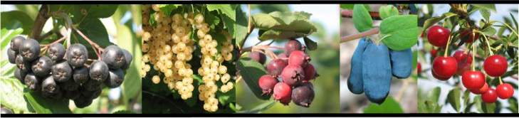
[[[465,43],[473,43],[478,40],[479,33],[470,29],[461,29],[458,37]],[[427,39],[434,46],[446,47],[447,53],[449,51],[448,45],[452,40],[451,31],[441,26],[431,26],[427,31]],[[476,53],[475,51],[473,47],[473,53]],[[435,57],[436,52],[437,50],[431,51],[431,55]],[[481,95],[483,102],[492,103],[496,102],[497,97],[504,100],[513,96],[512,85],[500,80],[500,84],[497,85],[496,89],[493,89],[486,82],[486,75],[499,77],[500,79],[500,76],[506,73],[508,62],[505,57],[491,53],[483,62],[485,74],[475,69],[473,61],[475,61],[474,56],[468,53],[468,50],[456,50],[452,56],[446,54],[437,56],[433,60],[432,75],[438,80],[449,80],[454,75],[461,75],[463,86],[473,94]],[[471,65],[473,66],[472,69]]]

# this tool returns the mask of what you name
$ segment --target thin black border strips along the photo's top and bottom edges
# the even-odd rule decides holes
[[[1,1],[1,4],[518,4],[519,0],[416,1]],[[519,4],[518,4],[519,5]],[[1,114],[1,117],[519,117],[519,114]]]

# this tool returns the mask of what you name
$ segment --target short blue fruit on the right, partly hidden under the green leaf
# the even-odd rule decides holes
[[[389,57],[391,58],[391,71],[394,77],[405,79],[411,75],[413,69],[411,48],[399,51],[389,50]]]

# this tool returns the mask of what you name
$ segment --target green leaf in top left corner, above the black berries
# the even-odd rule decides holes
[[[1,12],[0,18],[1,28],[23,28],[23,34],[30,33],[34,24],[33,18],[23,11],[4,11]]]

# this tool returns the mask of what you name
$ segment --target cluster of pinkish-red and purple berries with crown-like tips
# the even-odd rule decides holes
[[[305,46],[294,39],[285,43],[284,49],[284,53],[266,65],[268,75],[261,76],[258,85],[263,95],[273,95],[274,100],[282,104],[288,105],[293,101],[299,106],[310,107],[315,96],[310,80],[318,77],[310,63],[310,56],[305,53]],[[263,53],[252,52],[249,56],[259,63],[265,63],[266,56]]]

